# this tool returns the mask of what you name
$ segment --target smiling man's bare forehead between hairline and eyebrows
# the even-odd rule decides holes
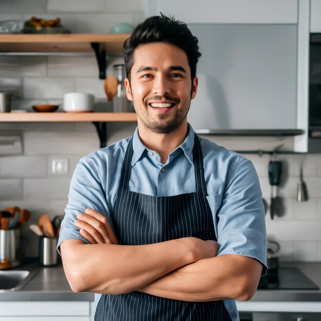
[[[189,70],[188,58],[183,49],[168,43],[150,43],[137,47],[134,51],[132,70],[142,66],[167,69],[170,66],[182,66]]]

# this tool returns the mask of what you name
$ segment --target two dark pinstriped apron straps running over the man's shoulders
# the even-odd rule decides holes
[[[130,139],[128,143],[122,168],[121,185],[119,187],[123,190],[128,190],[132,155],[133,137]],[[193,163],[195,172],[196,191],[202,192],[204,195],[207,195],[206,184],[204,179],[203,153],[202,148],[200,146],[199,138],[196,134],[194,136]]]

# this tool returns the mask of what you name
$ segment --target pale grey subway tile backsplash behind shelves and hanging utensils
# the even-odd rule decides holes
[[[116,23],[137,24],[144,19],[142,0],[4,0],[0,1],[0,20],[29,19],[33,15],[46,19],[61,17],[62,24],[73,33],[108,33]],[[108,56],[107,74],[122,57]],[[32,111],[36,104],[62,104],[70,91],[95,95],[95,110],[111,108],[98,79],[95,56],[1,56],[0,90],[16,94],[12,109]],[[62,105],[59,107],[62,110]],[[131,136],[135,124],[109,123],[108,144]],[[23,155],[0,157],[0,209],[19,206],[31,211],[31,223],[43,213],[61,215],[68,200],[69,183],[79,158],[99,148],[92,123],[0,123],[1,130],[22,131]],[[218,145],[237,146],[243,139],[212,138]],[[261,148],[275,142],[260,138]],[[257,142],[256,142],[257,144]],[[287,144],[287,141],[286,141]],[[259,176],[263,197],[270,205],[268,178],[269,155],[246,154]],[[67,158],[66,175],[51,173],[54,158]],[[298,203],[296,188],[301,159],[308,186],[308,202]],[[268,237],[280,243],[280,259],[321,261],[321,154],[282,154],[283,176],[279,195],[284,213],[271,220],[268,207]],[[27,255],[37,255],[37,237],[25,226]]]

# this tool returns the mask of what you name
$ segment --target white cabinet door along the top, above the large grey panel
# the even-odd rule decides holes
[[[156,9],[186,23],[297,23],[297,0],[157,0]]]

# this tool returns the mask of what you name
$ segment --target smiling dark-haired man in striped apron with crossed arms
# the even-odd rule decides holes
[[[96,293],[95,320],[235,321],[234,299],[251,298],[266,271],[252,163],[187,123],[197,43],[164,15],[136,27],[125,85],[138,127],[72,177],[58,249],[71,288]]]

